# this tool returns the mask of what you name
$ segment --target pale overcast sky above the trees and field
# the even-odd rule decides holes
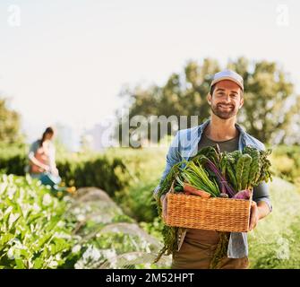
[[[276,61],[299,92],[299,16],[296,0],[1,0],[0,92],[39,134],[93,126],[123,84],[164,83],[189,59]]]

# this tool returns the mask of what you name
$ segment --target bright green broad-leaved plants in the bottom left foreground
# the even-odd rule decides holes
[[[0,176],[0,268],[56,268],[71,248],[65,203],[31,178]]]

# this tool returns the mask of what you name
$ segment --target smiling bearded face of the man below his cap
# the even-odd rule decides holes
[[[223,119],[235,117],[238,109],[243,106],[241,88],[229,80],[216,83],[213,94],[208,96],[212,112]]]

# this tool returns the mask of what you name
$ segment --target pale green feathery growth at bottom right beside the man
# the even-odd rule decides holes
[[[270,183],[273,211],[249,233],[250,267],[300,268],[300,193],[281,178]]]

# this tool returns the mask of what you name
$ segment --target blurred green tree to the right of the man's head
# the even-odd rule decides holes
[[[250,65],[244,57],[227,67],[244,77],[244,107],[238,121],[263,143],[288,142],[289,128],[300,109],[300,95],[288,75],[274,62]]]

